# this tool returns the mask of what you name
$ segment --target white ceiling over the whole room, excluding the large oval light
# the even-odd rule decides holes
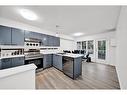
[[[18,9],[26,8],[35,12],[37,21],[25,20]],[[0,17],[29,25],[72,35],[75,32],[93,34],[114,29],[120,6],[0,6]]]

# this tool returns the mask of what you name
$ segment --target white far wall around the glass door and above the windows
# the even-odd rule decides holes
[[[105,32],[100,34],[93,34],[88,36],[79,37],[76,40],[77,41],[87,41],[87,40],[94,40],[94,54],[91,55],[92,61],[96,62],[96,41],[99,39],[106,39],[107,40],[107,52],[106,52],[106,64],[109,65],[116,65],[115,59],[116,59],[116,47],[111,46],[111,39],[116,39],[116,32]]]

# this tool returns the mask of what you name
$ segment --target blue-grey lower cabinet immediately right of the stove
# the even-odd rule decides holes
[[[53,57],[52,54],[45,54],[43,57],[43,68],[48,68],[52,66]]]

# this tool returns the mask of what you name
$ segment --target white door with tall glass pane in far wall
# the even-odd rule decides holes
[[[107,55],[107,40],[99,39],[96,40],[96,62],[97,63],[106,63]]]

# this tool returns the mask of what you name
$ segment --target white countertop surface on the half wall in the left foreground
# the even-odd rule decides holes
[[[22,65],[17,66],[13,68],[3,69],[0,70],[0,78],[12,76],[17,73],[29,71],[29,70],[35,70],[37,67],[34,64],[28,64],[28,65]]]

